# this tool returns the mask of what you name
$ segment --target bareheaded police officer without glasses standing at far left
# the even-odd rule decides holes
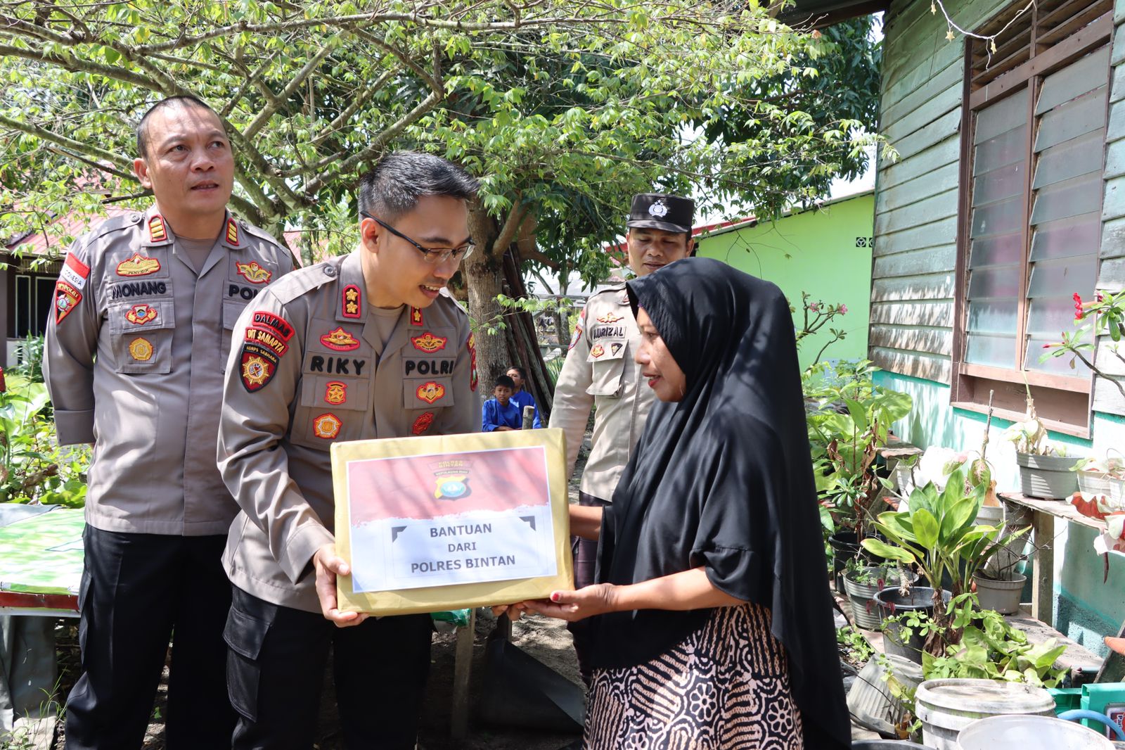
[[[74,243],[46,337],[58,441],[94,446],[66,747],[141,747],[174,630],[165,747],[223,748],[220,556],[237,506],[215,466],[216,405],[234,321],[292,257],[226,211],[234,160],[202,101],[156,104],[137,145],[156,200]]]

